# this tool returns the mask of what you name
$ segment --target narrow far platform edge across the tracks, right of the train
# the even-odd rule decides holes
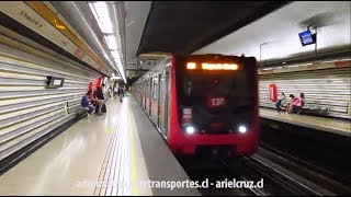
[[[350,120],[339,120],[332,118],[308,116],[303,114],[288,114],[283,111],[276,112],[275,109],[264,107],[260,107],[259,113],[260,117],[262,118],[351,137]]]

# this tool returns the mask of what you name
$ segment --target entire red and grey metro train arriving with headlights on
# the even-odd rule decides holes
[[[253,57],[171,55],[135,81],[132,94],[174,154],[231,158],[257,149]]]

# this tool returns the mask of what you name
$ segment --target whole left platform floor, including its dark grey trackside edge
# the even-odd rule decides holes
[[[0,195],[200,196],[194,188],[149,187],[190,178],[133,97],[111,99],[106,108],[2,174]]]

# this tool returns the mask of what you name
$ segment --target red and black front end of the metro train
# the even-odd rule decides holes
[[[203,55],[173,61],[171,149],[220,158],[252,154],[259,141],[256,59]]]

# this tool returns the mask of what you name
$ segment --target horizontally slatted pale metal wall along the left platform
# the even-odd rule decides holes
[[[89,83],[101,77],[49,54],[0,35],[0,161],[77,117]],[[64,86],[47,89],[48,76],[64,78]]]

